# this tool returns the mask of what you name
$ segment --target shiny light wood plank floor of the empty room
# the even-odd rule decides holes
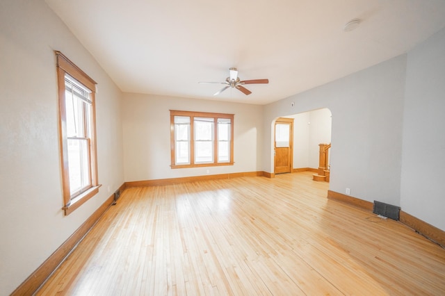
[[[38,295],[445,295],[445,249],[312,174],[128,188]]]

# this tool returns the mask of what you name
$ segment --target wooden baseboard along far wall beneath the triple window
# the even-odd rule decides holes
[[[182,178],[156,179],[125,182],[126,187],[163,186],[196,181],[209,181],[217,179],[233,179],[241,176],[265,176],[265,172],[239,172],[230,174],[209,174],[204,176],[186,176]]]

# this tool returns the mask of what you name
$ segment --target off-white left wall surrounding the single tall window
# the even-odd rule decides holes
[[[61,209],[54,50],[99,85],[103,186],[68,216]],[[0,53],[0,295],[9,295],[122,185],[122,94],[42,0],[1,1]]]

